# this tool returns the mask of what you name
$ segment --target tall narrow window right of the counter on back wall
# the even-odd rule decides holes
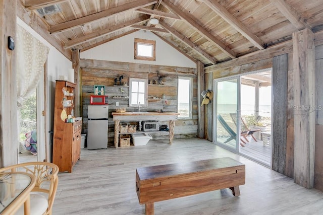
[[[178,77],[177,112],[179,118],[192,118],[192,78]]]

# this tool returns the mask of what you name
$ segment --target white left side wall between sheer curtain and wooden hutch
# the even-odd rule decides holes
[[[17,24],[26,29],[29,33],[31,33],[34,37],[40,40],[43,44],[49,47],[49,53],[47,57],[47,128],[45,132],[47,133],[47,142],[51,144],[51,136],[48,131],[53,130],[53,115],[54,115],[54,101],[55,101],[55,80],[58,80],[59,76],[67,76],[68,70],[72,68],[72,62],[66,58],[61,52],[59,52],[55,47],[50,45],[44,38],[42,38],[37,32],[35,32],[30,26],[24,23],[21,19],[17,17]],[[42,89],[39,89],[42,91]],[[43,98],[41,99],[41,103],[43,104]],[[43,105],[42,105],[43,107]],[[37,115],[41,115],[41,113],[37,112]],[[39,141],[38,141],[39,142]],[[44,147],[41,147],[44,152]]]

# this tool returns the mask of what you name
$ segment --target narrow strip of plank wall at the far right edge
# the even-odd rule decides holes
[[[323,191],[323,45],[315,47],[316,63],[316,126],[314,188]]]

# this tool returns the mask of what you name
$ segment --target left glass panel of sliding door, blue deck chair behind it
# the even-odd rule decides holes
[[[232,151],[239,149],[239,78],[227,80],[217,80],[214,83],[216,101],[214,110],[216,120],[214,120],[215,140],[217,144],[229,148]]]

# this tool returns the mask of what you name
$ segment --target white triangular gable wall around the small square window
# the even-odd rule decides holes
[[[156,61],[134,59],[134,38],[156,41]],[[155,34],[151,33],[150,31],[145,32],[142,30],[81,52],[80,58],[155,65],[196,67],[196,64],[192,60],[187,58],[181,52],[177,51],[168,43],[159,39],[159,37],[157,37]]]

